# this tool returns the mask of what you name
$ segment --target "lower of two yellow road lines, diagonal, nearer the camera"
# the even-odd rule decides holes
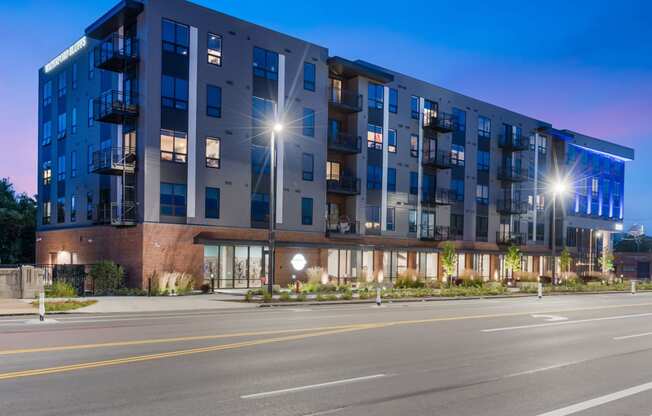
[[[307,338],[341,334],[345,332],[362,331],[365,329],[376,328],[378,326],[379,325],[374,325],[374,324],[359,325],[357,327],[337,329],[332,331],[311,332],[309,334],[299,334],[299,335],[288,335],[285,337],[243,341],[243,342],[238,342],[233,344],[214,345],[210,347],[192,348],[187,350],[163,352],[158,354],[137,355],[131,357],[104,360],[104,361],[94,361],[94,362],[86,362],[86,363],[79,363],[79,364],[63,365],[58,367],[40,368],[40,369],[24,370],[24,371],[12,371],[9,373],[0,373],[0,381],[12,380],[12,379],[23,378],[23,377],[65,373],[70,371],[85,370],[91,368],[108,367],[108,366],[121,365],[121,364],[130,364],[130,363],[137,363],[143,361],[153,361],[153,360],[160,360],[164,358],[181,357],[181,356],[213,352],[213,351],[234,350],[239,348],[252,347],[252,346],[264,345],[264,344],[272,344],[272,343],[283,342],[283,341],[297,341],[297,340],[302,340]]]

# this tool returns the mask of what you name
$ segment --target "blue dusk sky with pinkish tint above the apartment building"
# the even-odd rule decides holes
[[[39,67],[114,3],[0,4],[0,177],[10,177],[18,191],[36,189]],[[198,3],[328,47],[331,55],[633,147],[626,225],[652,230],[652,1]]]

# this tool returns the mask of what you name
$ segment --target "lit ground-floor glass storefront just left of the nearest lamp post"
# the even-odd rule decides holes
[[[267,274],[267,247],[204,246],[204,280],[222,289],[261,287]]]

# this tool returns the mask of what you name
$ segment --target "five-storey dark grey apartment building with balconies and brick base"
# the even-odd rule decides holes
[[[301,253],[334,279],[591,267],[622,230],[632,149],[553,127],[182,0],[123,0],[39,71],[40,263],[114,260],[130,284],[267,276]],[[275,125],[283,126],[275,131]]]

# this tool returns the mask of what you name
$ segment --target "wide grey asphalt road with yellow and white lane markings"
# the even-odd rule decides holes
[[[652,294],[0,319],[0,415],[652,415]]]

